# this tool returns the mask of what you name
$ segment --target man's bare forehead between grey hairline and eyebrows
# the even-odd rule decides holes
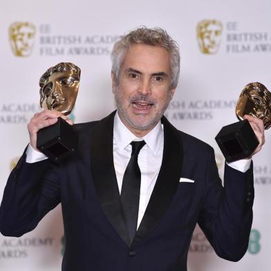
[[[133,68],[140,72],[169,73],[170,56],[168,51],[161,46],[135,44],[124,55],[122,68]]]

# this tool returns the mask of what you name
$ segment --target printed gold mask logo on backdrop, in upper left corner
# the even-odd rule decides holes
[[[35,25],[28,21],[16,21],[12,23],[8,29],[12,52],[17,57],[28,57],[32,53],[35,34]]]

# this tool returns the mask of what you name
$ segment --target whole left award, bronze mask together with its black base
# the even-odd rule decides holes
[[[40,106],[68,115],[73,110],[80,82],[80,68],[72,63],[59,63],[39,80]],[[37,133],[37,149],[53,161],[62,160],[77,149],[77,133],[62,118]]]

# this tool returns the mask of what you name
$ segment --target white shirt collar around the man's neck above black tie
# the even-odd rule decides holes
[[[151,149],[151,151],[156,154],[158,153],[158,149],[160,148],[162,140],[164,140],[164,133],[162,128],[163,127],[161,121],[159,121],[158,124],[156,124],[156,127],[149,131],[146,136],[137,138],[122,123],[117,111],[114,118],[113,138],[120,149],[125,149],[132,141],[144,140],[149,149]]]

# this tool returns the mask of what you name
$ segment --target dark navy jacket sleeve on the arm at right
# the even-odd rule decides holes
[[[218,256],[239,261],[247,251],[254,200],[253,165],[245,173],[225,165],[224,187],[214,151],[209,156],[206,191],[198,225]]]

